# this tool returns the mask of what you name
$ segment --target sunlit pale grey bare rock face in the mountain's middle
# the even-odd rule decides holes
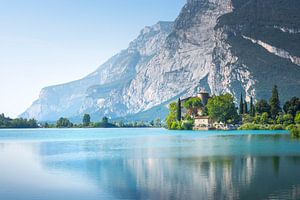
[[[127,106],[140,112],[180,94],[195,93],[199,81],[212,69],[217,19],[231,10],[229,0],[189,1],[176,19],[164,48],[126,88]]]

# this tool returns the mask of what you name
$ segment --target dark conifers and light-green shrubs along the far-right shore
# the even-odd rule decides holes
[[[243,125],[241,130],[290,130],[294,136],[300,136],[300,99],[292,97],[281,107],[278,87],[275,85],[269,101],[259,100],[255,105],[250,100],[250,109],[241,95],[239,114]],[[297,136],[298,137],[298,136]]]

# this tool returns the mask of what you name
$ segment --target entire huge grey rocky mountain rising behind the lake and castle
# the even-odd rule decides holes
[[[128,49],[81,80],[44,88],[21,116],[84,113],[149,120],[205,88],[247,99],[300,96],[300,2],[188,0],[174,22],[145,27]]]

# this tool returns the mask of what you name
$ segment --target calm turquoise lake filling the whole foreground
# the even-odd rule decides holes
[[[0,130],[0,199],[300,199],[284,131]]]

